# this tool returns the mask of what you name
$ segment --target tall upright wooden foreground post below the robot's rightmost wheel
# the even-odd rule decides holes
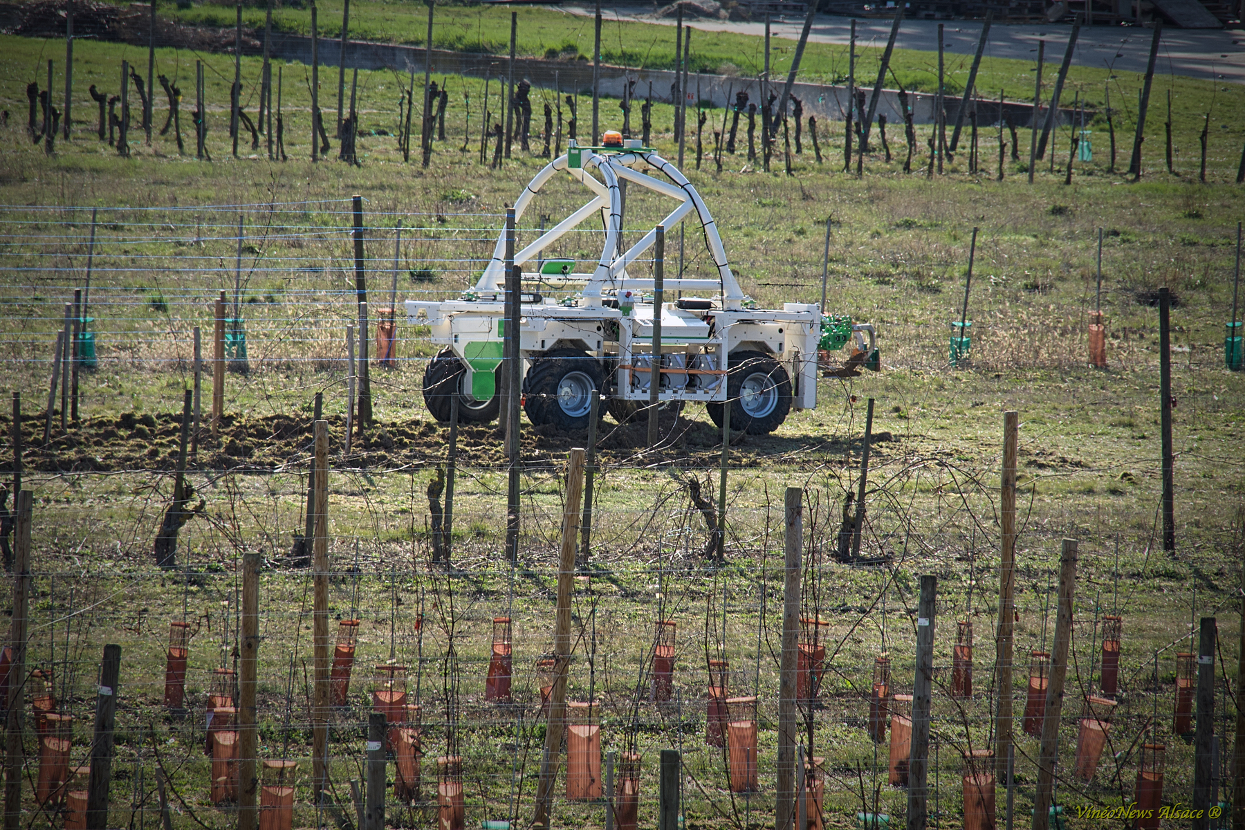
[[[799,666],[799,576],[804,545],[804,492],[788,487],[783,500],[783,579],[782,674],[778,684],[778,781],[774,828],[788,830],[796,805],[796,674]]]

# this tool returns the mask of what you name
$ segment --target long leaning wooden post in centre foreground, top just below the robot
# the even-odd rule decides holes
[[[566,669],[570,663],[570,589],[575,577],[575,541],[584,494],[584,450],[570,450],[566,468],[566,501],[561,513],[561,551],[558,556],[558,611],[554,620],[553,651],[558,661],[553,689],[549,692],[549,722],[545,729],[544,754],[540,758],[540,780],[537,785],[534,826],[548,828],[553,785],[558,779],[558,754],[566,719]]]

